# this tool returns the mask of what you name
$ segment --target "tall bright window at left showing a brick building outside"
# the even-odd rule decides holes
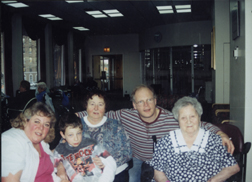
[[[23,70],[24,79],[29,81],[31,89],[35,89],[35,78],[38,75],[37,41],[23,35]]]

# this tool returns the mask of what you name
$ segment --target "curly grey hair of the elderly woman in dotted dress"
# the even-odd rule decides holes
[[[181,99],[179,99],[175,104],[174,107],[172,109],[172,113],[174,115],[174,118],[176,120],[178,120],[178,116],[179,116],[179,110],[182,107],[186,107],[188,105],[191,105],[194,107],[194,109],[196,110],[196,112],[198,113],[199,117],[201,117],[201,115],[203,114],[203,109],[201,104],[199,103],[199,101],[196,98],[192,98],[192,97],[182,97]]]

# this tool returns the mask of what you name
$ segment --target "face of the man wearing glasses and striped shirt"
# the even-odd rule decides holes
[[[148,88],[141,88],[136,91],[133,106],[139,112],[145,122],[153,122],[157,117],[156,103],[153,93]]]

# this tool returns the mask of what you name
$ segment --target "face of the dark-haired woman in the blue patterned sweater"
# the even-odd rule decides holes
[[[93,95],[92,99],[87,102],[88,121],[92,124],[98,124],[105,113],[104,99],[98,95]]]

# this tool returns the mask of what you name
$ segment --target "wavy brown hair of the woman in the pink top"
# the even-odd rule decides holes
[[[34,115],[48,117],[48,118],[51,119],[50,129],[49,129],[49,132],[46,135],[44,141],[46,143],[52,142],[54,140],[54,138],[55,138],[54,125],[55,125],[55,122],[56,122],[56,118],[55,118],[54,112],[51,110],[51,108],[48,105],[46,105],[46,104],[44,104],[42,102],[36,102],[31,107],[26,109],[24,111],[24,113],[20,113],[18,115],[18,117],[16,117],[15,119],[13,119],[11,121],[11,126],[13,128],[19,128],[19,129],[24,130],[25,123],[29,122],[31,117],[34,116]]]

